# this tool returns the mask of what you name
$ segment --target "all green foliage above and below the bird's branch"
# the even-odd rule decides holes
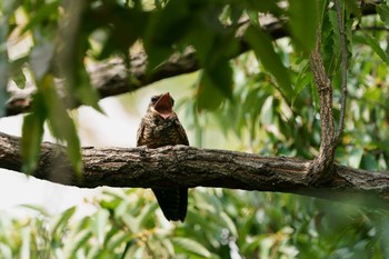
[[[139,42],[150,72],[173,52],[188,46],[196,49],[202,70],[191,93],[178,101],[186,124],[194,131],[193,145],[212,147],[210,136],[218,133],[229,149],[311,159],[318,153],[320,123],[308,53],[320,22],[339,117],[340,43],[331,1],[2,0],[0,4],[0,101],[8,99],[9,83],[21,89],[30,82],[37,86],[22,130],[27,172],[36,167],[44,122],[59,142],[67,143],[74,168],[81,170],[77,128],[66,107],[84,103],[100,110],[86,67],[112,56],[128,59],[129,47]],[[341,1],[350,57],[349,103],[336,159],[385,170],[389,7],[378,2],[378,14],[362,16],[363,4]],[[272,41],[258,13],[286,20],[289,37]],[[245,19],[249,28],[245,37],[237,37]],[[233,58],[242,39],[252,51]],[[61,91],[54,83],[59,77],[67,79]],[[190,193],[186,222],[170,225],[148,190],[108,189],[91,202],[97,211],[88,217],[76,217],[76,208],[56,219],[40,208],[31,208],[37,213],[26,219],[2,215],[1,257],[389,258],[389,221],[380,210],[292,195],[197,188]]]

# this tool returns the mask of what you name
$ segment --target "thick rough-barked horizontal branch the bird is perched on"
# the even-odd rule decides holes
[[[0,168],[21,171],[20,139],[0,133]],[[82,148],[84,171],[79,178],[61,152],[44,142],[33,177],[68,186],[220,187],[289,192],[389,209],[389,175],[335,166],[328,182],[311,185],[311,161],[261,157],[246,152],[186,146],[147,148]]]

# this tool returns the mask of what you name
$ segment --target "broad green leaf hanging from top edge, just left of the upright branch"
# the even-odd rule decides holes
[[[298,49],[310,53],[316,42],[318,29],[318,7],[312,0],[289,1],[289,26]]]

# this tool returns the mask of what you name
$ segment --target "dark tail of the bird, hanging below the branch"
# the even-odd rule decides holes
[[[168,220],[183,222],[187,216],[188,207],[188,189],[152,189],[154,192],[159,207]]]

